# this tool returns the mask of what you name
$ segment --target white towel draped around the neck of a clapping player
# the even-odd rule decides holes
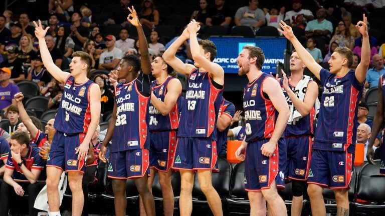
[[[305,93],[303,92],[303,88],[307,87],[307,84],[309,83],[310,80],[313,80],[310,76],[307,76],[307,75],[303,75],[302,76],[302,79],[299,80],[297,86],[295,86],[295,90],[294,92],[298,92],[297,96],[298,98],[303,101],[303,99],[305,98]],[[316,98],[315,100],[315,103],[314,103],[314,108],[315,108],[315,114],[317,114],[319,112],[319,106],[320,106],[320,102],[319,102],[319,99],[318,97]],[[302,118],[302,115],[299,111],[297,111],[297,109],[294,107],[294,104],[292,103],[291,105],[289,105],[289,109],[290,109],[290,117],[289,117],[289,120],[287,121],[288,124],[294,124],[295,125],[295,122],[296,121],[299,121],[299,119]]]

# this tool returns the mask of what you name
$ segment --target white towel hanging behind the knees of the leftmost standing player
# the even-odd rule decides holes
[[[60,197],[60,204],[62,204],[64,192],[67,189],[67,175],[66,172],[63,172],[60,176],[59,181],[59,197]],[[48,205],[48,196],[47,196],[47,184],[43,187],[42,190],[40,190],[38,196],[35,199],[34,208],[49,211],[50,206]]]

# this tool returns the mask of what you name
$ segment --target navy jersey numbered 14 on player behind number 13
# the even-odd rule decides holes
[[[151,83],[152,93],[156,98],[164,101],[164,97],[167,93],[167,84],[168,82],[174,79],[171,76],[168,76],[163,83],[156,85],[156,80]],[[168,115],[163,116],[155,106],[152,105],[151,101],[148,103],[148,129],[150,131],[164,131],[177,129],[179,126],[179,112],[178,112],[178,103],[180,100],[180,95],[177,99],[175,105],[171,108]]]

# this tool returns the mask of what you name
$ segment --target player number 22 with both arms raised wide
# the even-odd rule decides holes
[[[290,26],[280,23],[282,32],[297,50],[302,62],[323,85],[321,107],[315,132],[308,174],[308,194],[313,215],[325,215],[323,187],[333,189],[337,214],[349,214],[347,190],[354,161],[357,107],[370,60],[367,19],[355,27],[362,34],[361,62],[351,70],[353,53],[347,47],[337,47],[328,61],[330,71],[323,69],[294,36]]]

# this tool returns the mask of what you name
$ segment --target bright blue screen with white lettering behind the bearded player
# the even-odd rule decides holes
[[[226,73],[238,73],[237,57],[245,45],[259,46],[265,53],[263,72],[276,71],[277,61],[284,63],[284,50],[287,46],[285,37],[210,37],[217,46],[214,62],[223,67]]]

